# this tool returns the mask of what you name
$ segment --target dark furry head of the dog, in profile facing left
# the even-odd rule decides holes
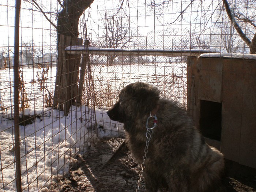
[[[121,90],[119,99],[107,112],[110,119],[125,123],[149,114],[157,105],[159,90],[147,83],[131,83]]]

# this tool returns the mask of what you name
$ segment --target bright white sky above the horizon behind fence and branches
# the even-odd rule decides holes
[[[41,0],[39,2],[45,12],[56,13],[60,10],[60,5],[56,0]],[[165,44],[172,46],[173,39],[170,37],[182,38],[181,35],[189,35],[188,31],[189,33],[198,34],[202,39],[211,39],[211,46],[215,46],[215,42],[220,44],[216,39],[220,38],[221,31],[212,25],[217,21],[217,16],[211,16],[212,14],[218,15],[219,10],[215,10],[215,8],[219,1],[211,3],[210,0],[205,0],[203,4],[200,4],[200,2],[200,0],[195,0],[190,4],[190,0],[176,0],[171,1],[168,6],[165,5],[162,9],[161,7],[151,7],[148,0],[125,0],[120,12],[129,16],[130,27],[138,31],[139,41],[146,42],[146,45],[159,46]],[[14,6],[14,0],[0,0],[0,50],[3,47],[8,49],[8,46],[12,49],[14,44]],[[53,49],[56,48],[54,27],[35,6],[22,1],[21,7],[20,42],[31,41],[37,46],[42,46],[45,52],[54,52]],[[180,16],[181,11],[186,7],[188,8],[184,15]],[[222,6],[220,5],[220,7]],[[94,0],[91,7],[80,18],[80,37],[85,38],[85,23],[87,25],[87,35],[91,39],[97,39],[97,36],[101,37],[103,35],[101,28],[102,22],[104,22],[102,21],[104,10],[109,10],[114,15],[118,8],[120,8],[120,0]],[[48,13],[46,15],[56,24],[56,15]]]

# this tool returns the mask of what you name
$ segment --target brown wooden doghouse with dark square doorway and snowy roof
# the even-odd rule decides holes
[[[256,55],[188,57],[188,112],[226,159],[256,168]]]

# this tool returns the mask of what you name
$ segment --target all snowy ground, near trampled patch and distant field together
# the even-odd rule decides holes
[[[162,95],[181,99],[187,86],[186,64],[152,65],[94,65],[92,66],[97,103],[108,108],[116,101],[118,92],[138,80],[151,83],[162,90]],[[20,157],[24,191],[48,191],[61,176],[68,172],[77,155],[86,153],[98,137],[120,136],[123,125],[110,121],[106,110],[87,106],[71,106],[68,116],[57,109],[44,107],[46,92],[39,90],[37,73],[42,69],[23,68],[29,108],[25,115],[41,115],[33,124],[20,125]],[[56,67],[50,68],[46,80],[48,90],[54,89]],[[53,77],[53,78],[52,78]],[[0,103],[5,108],[0,114],[0,191],[16,191],[14,164],[13,71],[0,70]],[[97,122],[97,128],[95,128]],[[95,128],[95,129],[94,129]]]

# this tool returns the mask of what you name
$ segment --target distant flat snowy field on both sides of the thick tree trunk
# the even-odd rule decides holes
[[[45,68],[46,70],[46,68]],[[30,108],[42,109],[45,106],[44,96],[48,91],[40,91],[38,76],[42,68],[22,68],[28,104]],[[186,102],[187,63],[154,63],[144,65],[92,65],[93,83],[96,100],[102,108],[109,107],[116,101],[119,91],[127,84],[136,81],[148,82],[162,90],[162,95],[170,99],[178,99],[182,105]],[[49,68],[42,83],[53,94],[56,67]],[[10,113],[13,105],[13,69],[0,70],[0,107]]]

